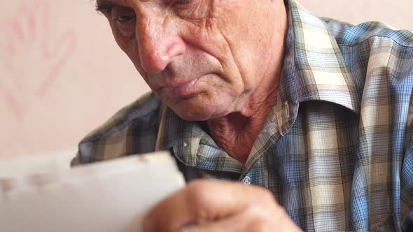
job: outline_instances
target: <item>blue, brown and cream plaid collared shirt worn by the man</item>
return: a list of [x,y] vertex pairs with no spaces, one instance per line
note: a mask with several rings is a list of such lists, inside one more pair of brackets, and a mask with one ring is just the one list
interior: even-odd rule
[[319,18],[288,1],[279,97],[245,165],[154,94],[79,145],[72,164],[170,150],[187,180],[274,193],[305,231],[400,231],[413,210],[413,33]]

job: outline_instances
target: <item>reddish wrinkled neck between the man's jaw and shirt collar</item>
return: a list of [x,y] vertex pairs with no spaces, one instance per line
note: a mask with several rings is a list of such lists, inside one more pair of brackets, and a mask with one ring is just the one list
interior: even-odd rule
[[245,164],[253,144],[265,124],[269,110],[274,106],[278,96],[279,79],[283,64],[283,50],[287,33],[286,8],[279,8],[279,20],[276,20],[272,48],[264,55],[268,61],[267,69],[257,73],[262,78],[257,87],[246,94],[245,101],[238,110],[217,119],[207,121],[209,133],[218,146],[222,147],[230,157]]

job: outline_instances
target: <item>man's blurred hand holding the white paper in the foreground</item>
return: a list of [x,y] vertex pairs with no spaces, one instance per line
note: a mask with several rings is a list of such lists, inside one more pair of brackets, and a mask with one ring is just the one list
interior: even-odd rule
[[196,180],[158,203],[145,232],[300,231],[274,196],[261,187]]

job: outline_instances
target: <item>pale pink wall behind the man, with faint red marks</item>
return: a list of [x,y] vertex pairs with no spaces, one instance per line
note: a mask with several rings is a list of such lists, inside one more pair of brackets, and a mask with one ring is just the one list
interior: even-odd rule
[[[411,0],[302,0],[318,15],[413,29]],[[76,149],[148,91],[92,0],[0,1],[0,159]]]

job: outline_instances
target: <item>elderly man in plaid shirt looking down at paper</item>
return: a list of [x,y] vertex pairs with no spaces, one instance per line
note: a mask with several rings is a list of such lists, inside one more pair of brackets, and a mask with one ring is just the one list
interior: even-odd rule
[[229,180],[190,182],[148,213],[146,231],[402,229],[412,32],[319,18],[295,0],[97,10],[153,93],[84,138],[72,164],[170,150],[188,181]]

